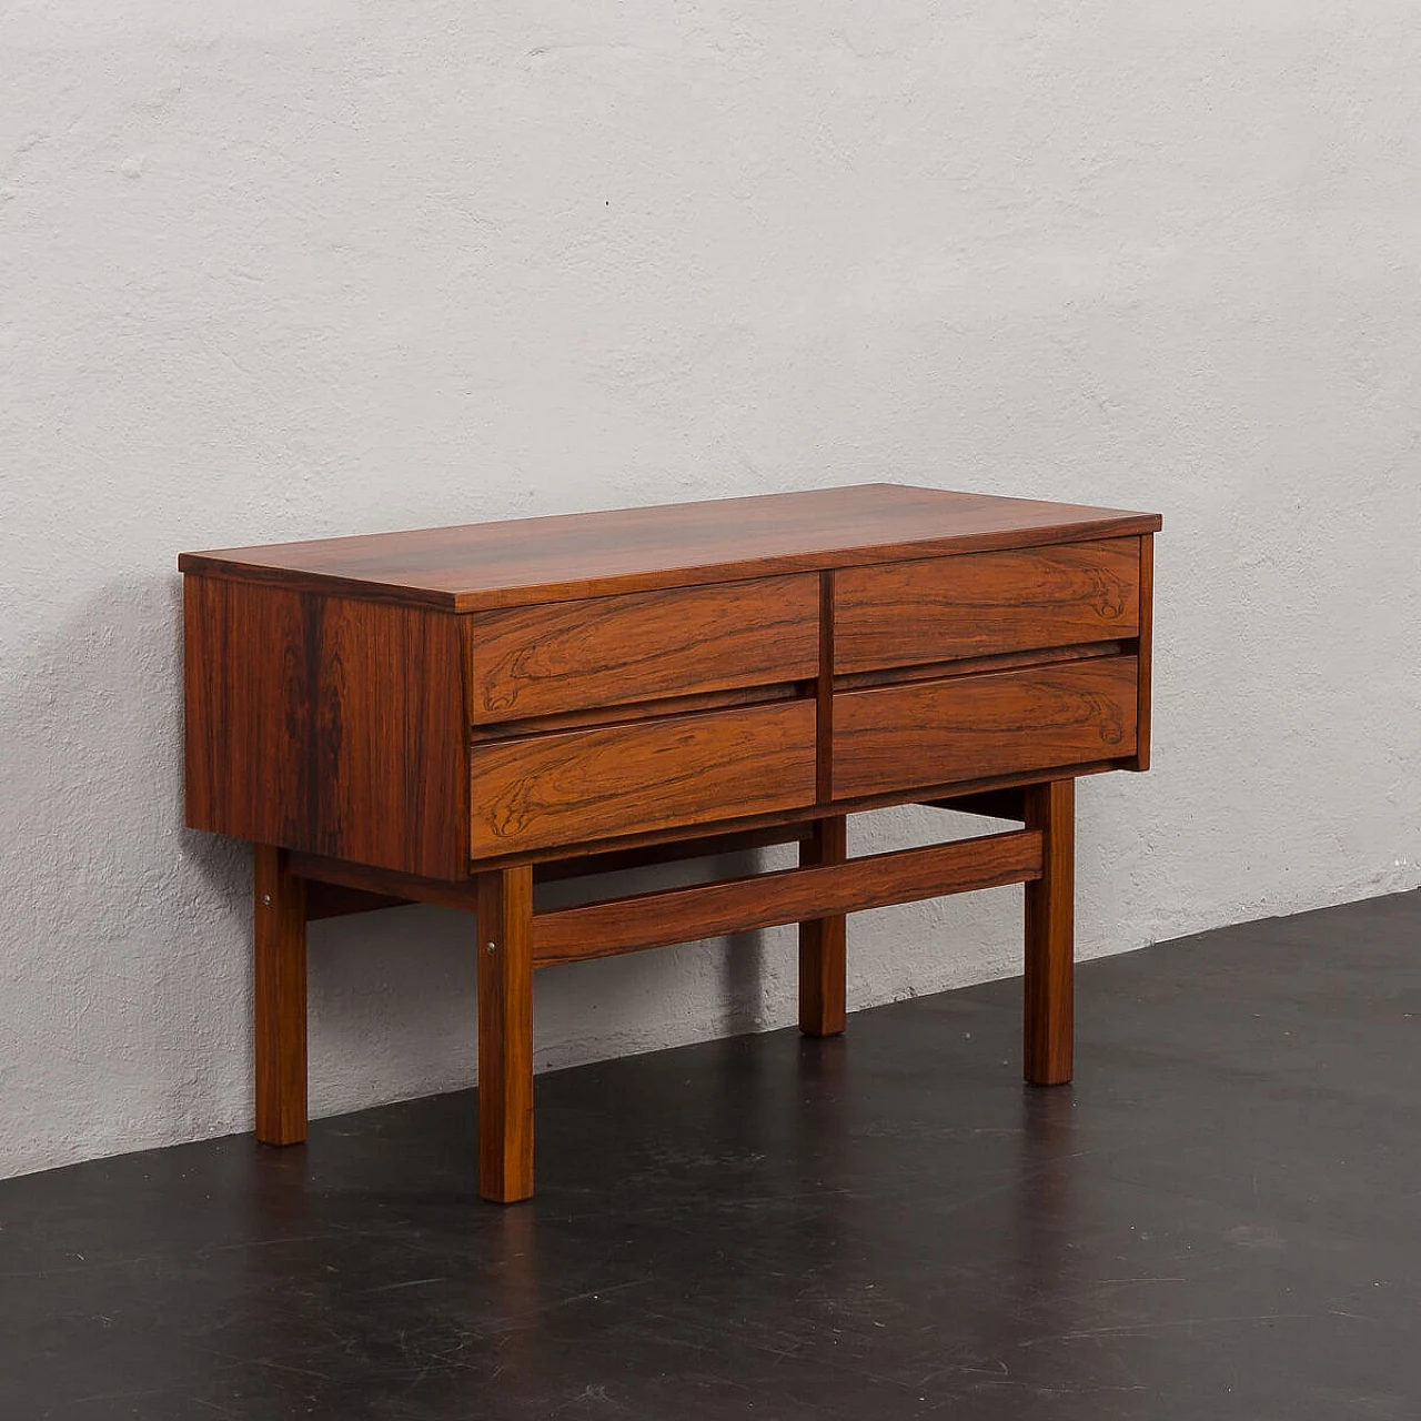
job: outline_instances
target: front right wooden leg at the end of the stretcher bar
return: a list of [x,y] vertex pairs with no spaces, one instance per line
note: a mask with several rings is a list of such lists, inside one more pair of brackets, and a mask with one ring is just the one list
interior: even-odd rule
[[1026,885],[1025,1074],[1033,1086],[1071,1077],[1076,968],[1076,782],[1026,790],[1026,827],[1042,833],[1042,877]]

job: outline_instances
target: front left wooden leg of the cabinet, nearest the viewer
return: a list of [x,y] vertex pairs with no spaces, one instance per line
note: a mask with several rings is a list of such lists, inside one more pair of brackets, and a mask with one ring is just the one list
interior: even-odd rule
[[533,870],[479,875],[479,1194],[533,1194]]

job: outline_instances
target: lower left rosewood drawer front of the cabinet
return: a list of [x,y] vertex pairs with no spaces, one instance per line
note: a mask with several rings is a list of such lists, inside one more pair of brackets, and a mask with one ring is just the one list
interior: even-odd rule
[[470,752],[473,858],[814,801],[814,702],[490,740]]

